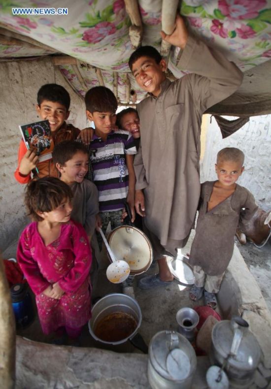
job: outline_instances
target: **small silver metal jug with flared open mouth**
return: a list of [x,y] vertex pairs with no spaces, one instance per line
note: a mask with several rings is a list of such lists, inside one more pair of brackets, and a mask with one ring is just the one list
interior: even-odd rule
[[178,332],[185,336],[189,342],[193,342],[199,320],[199,315],[194,309],[188,307],[179,309],[176,314]]

